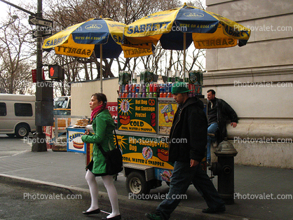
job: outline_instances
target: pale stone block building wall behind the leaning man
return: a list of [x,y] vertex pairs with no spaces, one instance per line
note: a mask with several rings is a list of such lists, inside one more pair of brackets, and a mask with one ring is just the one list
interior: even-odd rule
[[227,124],[235,162],[293,168],[293,1],[206,4],[207,11],[252,30],[246,46],[206,53],[203,92],[214,89],[238,114],[236,128]]

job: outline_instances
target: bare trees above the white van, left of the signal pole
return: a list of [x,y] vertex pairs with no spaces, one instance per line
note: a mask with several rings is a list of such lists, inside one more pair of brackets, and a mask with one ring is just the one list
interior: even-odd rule
[[[24,16],[19,14],[20,19]],[[11,13],[4,24],[11,22]],[[0,90],[7,93],[33,93],[32,56],[34,43],[32,31],[20,20],[0,29]]]

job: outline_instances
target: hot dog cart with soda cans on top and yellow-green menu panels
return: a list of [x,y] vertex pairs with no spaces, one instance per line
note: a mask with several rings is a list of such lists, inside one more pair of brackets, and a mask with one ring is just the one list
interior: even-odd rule
[[[123,173],[127,191],[133,195],[146,195],[151,188],[161,186],[162,181],[167,184],[170,182],[173,164],[168,162],[168,137],[177,103],[171,97],[170,78],[169,83],[153,83],[153,75],[144,73],[141,75],[140,84],[136,84],[135,78],[131,84],[130,78],[131,74],[119,74],[116,135],[123,153]],[[190,79],[191,77],[189,81]],[[175,78],[172,80],[173,83],[177,81]],[[201,87],[196,82],[189,85],[186,83],[189,89],[194,88],[189,95],[200,97],[206,106],[206,99],[199,96]],[[69,142],[73,142],[74,137],[80,139],[81,133],[87,129],[93,132],[90,126],[78,129],[79,132],[71,130]],[[74,143],[74,146],[81,147]],[[93,144],[85,144],[84,149],[86,163],[89,163]],[[201,165],[206,170],[205,159]]]

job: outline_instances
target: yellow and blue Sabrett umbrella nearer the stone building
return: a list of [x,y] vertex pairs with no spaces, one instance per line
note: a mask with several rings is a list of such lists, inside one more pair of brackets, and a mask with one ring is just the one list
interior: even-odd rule
[[191,43],[198,49],[245,46],[250,29],[221,15],[192,6],[153,13],[124,29],[123,41],[135,45],[160,41],[162,48],[184,50]]

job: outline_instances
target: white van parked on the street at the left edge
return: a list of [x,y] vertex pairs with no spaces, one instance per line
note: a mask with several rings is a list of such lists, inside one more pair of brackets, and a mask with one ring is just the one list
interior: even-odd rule
[[27,137],[36,131],[34,95],[0,93],[0,134]]

